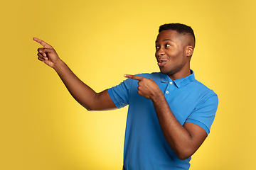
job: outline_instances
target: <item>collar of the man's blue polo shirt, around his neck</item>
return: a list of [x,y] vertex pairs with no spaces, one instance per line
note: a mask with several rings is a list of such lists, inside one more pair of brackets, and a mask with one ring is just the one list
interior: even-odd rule
[[171,80],[170,77],[167,74],[161,74],[161,82],[162,83],[169,83],[170,81],[174,82],[174,84],[181,88],[183,86],[186,86],[191,81],[195,80],[195,75],[193,73],[193,70],[191,69],[191,74],[188,77],[183,77],[181,79]]

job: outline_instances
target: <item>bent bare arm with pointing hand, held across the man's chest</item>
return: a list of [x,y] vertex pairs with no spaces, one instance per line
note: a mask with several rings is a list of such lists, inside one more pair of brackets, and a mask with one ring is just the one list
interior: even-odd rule
[[164,94],[153,79],[129,74],[124,77],[138,80],[138,94],[151,99],[164,137],[178,159],[191,157],[206,139],[206,131],[193,123],[181,125],[171,112]]

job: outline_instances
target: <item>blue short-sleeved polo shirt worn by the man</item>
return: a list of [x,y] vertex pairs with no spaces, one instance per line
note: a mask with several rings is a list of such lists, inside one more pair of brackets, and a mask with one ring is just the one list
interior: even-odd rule
[[[182,79],[171,80],[166,74],[137,74],[153,79],[163,92],[172,113],[181,125],[194,123],[210,132],[218,96],[197,81],[193,71]],[[126,79],[108,89],[117,108],[129,105],[124,139],[126,170],[189,169],[191,157],[180,160],[166,142],[153,103],[137,93],[138,81]]]

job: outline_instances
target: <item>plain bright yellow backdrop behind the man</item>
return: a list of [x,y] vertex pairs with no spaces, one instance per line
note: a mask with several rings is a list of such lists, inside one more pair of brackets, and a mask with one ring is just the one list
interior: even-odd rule
[[0,169],[122,169],[127,107],[87,112],[37,60],[34,36],[102,91],[123,74],[158,72],[158,28],[176,22],[195,31],[191,69],[220,101],[191,170],[256,169],[255,8],[254,0],[1,1]]

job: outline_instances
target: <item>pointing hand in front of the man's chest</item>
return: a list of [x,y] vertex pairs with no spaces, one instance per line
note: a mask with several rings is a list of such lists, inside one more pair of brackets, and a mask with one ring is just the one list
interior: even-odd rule
[[138,77],[130,74],[124,74],[124,77],[139,81],[138,94],[140,96],[153,99],[154,97],[163,94],[153,79],[146,79],[144,77]]

